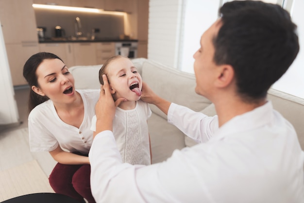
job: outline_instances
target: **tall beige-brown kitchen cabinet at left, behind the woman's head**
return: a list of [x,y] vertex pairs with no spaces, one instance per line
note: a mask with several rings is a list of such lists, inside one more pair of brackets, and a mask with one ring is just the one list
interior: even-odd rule
[[39,51],[33,0],[0,0],[0,21],[13,85],[26,85],[23,66]]

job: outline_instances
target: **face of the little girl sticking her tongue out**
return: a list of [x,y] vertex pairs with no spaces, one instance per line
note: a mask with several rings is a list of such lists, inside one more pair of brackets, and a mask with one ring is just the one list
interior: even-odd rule
[[118,58],[112,61],[107,67],[107,72],[114,100],[120,97],[128,101],[140,99],[142,79],[130,59]]

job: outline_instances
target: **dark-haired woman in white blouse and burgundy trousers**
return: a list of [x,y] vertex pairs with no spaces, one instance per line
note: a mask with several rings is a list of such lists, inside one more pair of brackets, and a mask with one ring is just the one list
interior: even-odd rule
[[50,152],[58,163],[49,177],[56,193],[79,202],[95,200],[90,188],[87,157],[93,141],[90,130],[99,90],[75,90],[74,78],[56,55],[39,52],[24,65],[31,86],[29,136],[32,152]]

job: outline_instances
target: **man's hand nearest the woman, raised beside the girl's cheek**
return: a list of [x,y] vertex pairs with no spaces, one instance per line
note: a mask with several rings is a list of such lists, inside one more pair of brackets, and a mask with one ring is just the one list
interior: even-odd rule
[[115,116],[116,107],[122,101],[126,101],[124,98],[119,98],[114,102],[106,75],[102,75],[102,79],[104,85],[101,85],[99,100],[95,106],[97,118],[96,135],[105,130],[113,131],[113,118]]

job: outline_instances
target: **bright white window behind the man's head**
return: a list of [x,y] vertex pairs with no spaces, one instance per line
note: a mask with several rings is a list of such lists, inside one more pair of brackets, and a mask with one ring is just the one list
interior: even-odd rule
[[[193,73],[193,54],[200,47],[203,32],[217,19],[220,5],[230,0],[186,0],[181,26],[179,62],[177,68]],[[304,0],[264,0],[282,5],[298,25],[300,52],[286,74],[272,88],[304,98]]]

